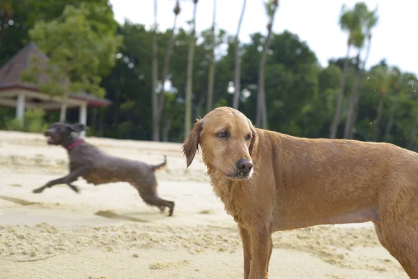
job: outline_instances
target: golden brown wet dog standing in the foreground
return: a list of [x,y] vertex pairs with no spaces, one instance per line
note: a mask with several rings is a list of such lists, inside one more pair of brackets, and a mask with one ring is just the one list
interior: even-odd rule
[[410,278],[418,278],[418,154],[393,144],[307,139],[254,128],[230,107],[194,124],[215,194],[240,229],[244,278],[268,277],[272,232],[372,221]]

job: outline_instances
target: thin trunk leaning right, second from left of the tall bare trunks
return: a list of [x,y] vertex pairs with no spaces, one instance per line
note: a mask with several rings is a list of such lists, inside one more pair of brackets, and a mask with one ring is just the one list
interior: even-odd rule
[[167,51],[164,57],[164,68],[162,70],[162,92],[160,93],[160,98],[158,100],[158,109],[157,109],[157,121],[156,121],[156,132],[160,135],[160,127],[161,127],[161,118],[162,112],[164,112],[165,107],[165,92],[164,92],[164,84],[167,82],[167,77],[169,75],[169,68],[170,68],[170,59],[171,54],[173,53],[173,43],[174,43],[174,32],[176,31],[177,25],[177,16],[180,13],[180,5],[179,0],[176,1],[176,6],[174,7],[174,23],[173,23],[173,30],[171,31],[171,35],[169,41],[167,43]]

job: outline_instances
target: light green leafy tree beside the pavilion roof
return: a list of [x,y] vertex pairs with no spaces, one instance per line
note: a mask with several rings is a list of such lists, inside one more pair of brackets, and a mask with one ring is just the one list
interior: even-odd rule
[[[33,57],[22,78],[37,84],[40,91],[63,96],[60,121],[65,121],[69,93],[86,91],[104,96],[100,75],[107,75],[114,66],[116,50],[121,44],[121,37],[115,36],[111,29],[102,29],[100,22],[89,21],[89,15],[84,4],[79,8],[66,6],[55,20],[37,22],[29,31],[31,40],[49,61],[47,65],[41,65]],[[41,73],[45,73],[50,82],[38,84]]]

